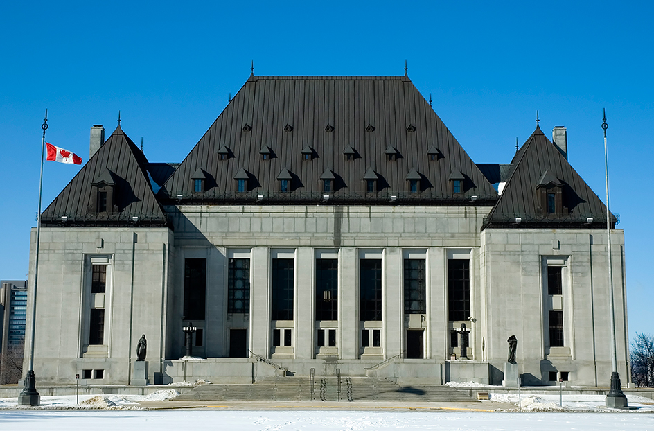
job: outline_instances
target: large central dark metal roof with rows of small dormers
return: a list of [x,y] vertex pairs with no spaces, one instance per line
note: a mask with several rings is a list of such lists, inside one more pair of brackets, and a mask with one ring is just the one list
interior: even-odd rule
[[[244,124],[251,130],[244,130]],[[259,154],[263,146],[276,157],[263,160]],[[313,150],[310,160],[302,157],[307,147]],[[388,160],[389,147],[397,150],[395,160]],[[442,155],[438,160],[427,155],[432,147]],[[229,148],[229,159],[217,157],[220,148]],[[344,156],[352,154],[348,148],[357,157],[348,160]],[[200,167],[213,177],[213,186],[198,195],[190,177]],[[320,177],[327,167],[335,175],[330,204],[386,203],[390,195],[397,195],[400,202],[430,204],[467,203],[472,195],[478,196],[475,204],[497,200],[493,186],[406,76],[251,76],[159,196],[175,202],[238,199],[256,204],[257,195],[263,195],[264,202],[322,200]],[[363,178],[369,167],[379,175],[376,193],[366,193]],[[236,193],[232,181],[240,168],[256,179],[257,187],[248,193]],[[292,173],[291,193],[278,192],[284,168]],[[408,191],[405,177],[411,168],[423,175],[421,193]],[[456,195],[448,179],[454,168],[465,179],[464,193]]]

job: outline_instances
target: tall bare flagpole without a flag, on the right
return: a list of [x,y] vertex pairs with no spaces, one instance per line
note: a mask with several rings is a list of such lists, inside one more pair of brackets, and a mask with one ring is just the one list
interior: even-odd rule
[[602,129],[604,130],[604,172],[606,174],[606,240],[608,248],[608,286],[609,286],[609,311],[610,311],[610,325],[611,325],[611,389],[606,394],[606,407],[627,407],[627,397],[621,389],[620,374],[618,373],[617,353],[615,349],[615,309],[613,304],[613,254],[611,251],[611,211],[608,193],[608,149],[606,146],[606,109],[603,109],[603,123]]

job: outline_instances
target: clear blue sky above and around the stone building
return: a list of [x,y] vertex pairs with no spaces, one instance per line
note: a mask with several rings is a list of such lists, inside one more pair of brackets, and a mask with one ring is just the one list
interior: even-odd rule
[[[625,230],[630,334],[654,333],[654,33],[649,2],[5,2],[0,15],[0,278],[25,279],[47,140],[88,158],[116,126],[150,161],[182,161],[249,76],[409,77],[477,163],[511,160],[535,127],[568,130],[569,161]],[[527,4],[529,3],[529,4]],[[44,166],[44,208],[78,167]]]

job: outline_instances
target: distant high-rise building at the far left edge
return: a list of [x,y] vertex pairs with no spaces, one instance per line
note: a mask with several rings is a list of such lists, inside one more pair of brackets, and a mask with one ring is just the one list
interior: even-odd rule
[[[21,349],[25,340],[27,281],[0,281],[0,353]],[[20,351],[20,350],[18,350]],[[14,351],[16,353],[17,350]],[[6,363],[0,363],[0,383],[5,381]]]

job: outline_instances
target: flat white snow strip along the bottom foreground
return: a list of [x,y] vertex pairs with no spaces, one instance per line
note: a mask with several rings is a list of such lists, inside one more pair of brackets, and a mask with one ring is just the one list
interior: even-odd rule
[[380,411],[1,411],[3,430],[139,430],[220,429],[238,431],[324,430],[458,430],[458,431],[651,431],[650,414],[621,413],[484,413]]

